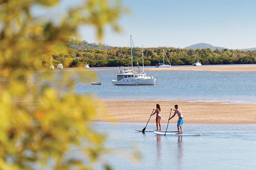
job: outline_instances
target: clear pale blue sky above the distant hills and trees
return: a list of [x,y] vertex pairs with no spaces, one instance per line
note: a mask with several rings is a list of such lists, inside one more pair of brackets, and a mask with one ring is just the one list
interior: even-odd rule
[[[70,0],[63,0],[68,5]],[[116,33],[105,26],[97,39],[92,26],[80,26],[77,38],[89,43],[130,47],[185,48],[197,43],[229,49],[256,47],[256,1],[254,0],[122,0],[130,12],[117,23]]]

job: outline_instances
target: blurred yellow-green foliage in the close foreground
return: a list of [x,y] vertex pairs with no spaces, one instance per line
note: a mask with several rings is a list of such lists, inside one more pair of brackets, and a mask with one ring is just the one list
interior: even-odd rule
[[[111,1],[111,5],[108,0],[81,2],[70,7],[56,24],[32,15],[31,8],[51,8],[60,4],[59,0],[0,0],[0,78],[9,80],[0,85],[1,170],[44,167],[50,159],[52,169],[90,169],[92,162],[108,152],[102,145],[106,136],[91,129],[89,115],[96,115],[92,96],[77,95],[70,76],[62,75],[59,88],[68,89],[63,94],[51,85],[24,83],[32,71],[40,69],[39,59],[47,57],[43,47],[61,49],[62,37],[75,35],[79,25],[95,26],[99,38],[106,24],[120,30],[116,20],[125,10],[119,1]],[[50,71],[39,75],[37,80],[54,81]],[[86,76],[80,76],[80,81],[96,75],[88,72]],[[85,139],[88,146],[81,145]],[[73,145],[84,149],[88,163],[65,157]],[[103,166],[109,169],[107,164]]]

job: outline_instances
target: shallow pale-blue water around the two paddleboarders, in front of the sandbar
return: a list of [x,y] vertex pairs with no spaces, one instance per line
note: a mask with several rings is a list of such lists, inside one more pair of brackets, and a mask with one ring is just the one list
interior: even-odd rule
[[[255,124],[187,124],[184,133],[201,133],[202,136],[159,136],[152,132],[142,134],[134,129],[143,129],[146,123],[94,122],[98,131],[108,134],[106,146],[114,150],[140,151],[142,158],[134,163],[122,157],[105,156],[114,169],[255,169],[256,125]],[[155,129],[148,123],[147,129]],[[162,123],[166,129],[167,123]],[[168,130],[176,130],[169,123]],[[96,169],[102,169],[96,166]]]

